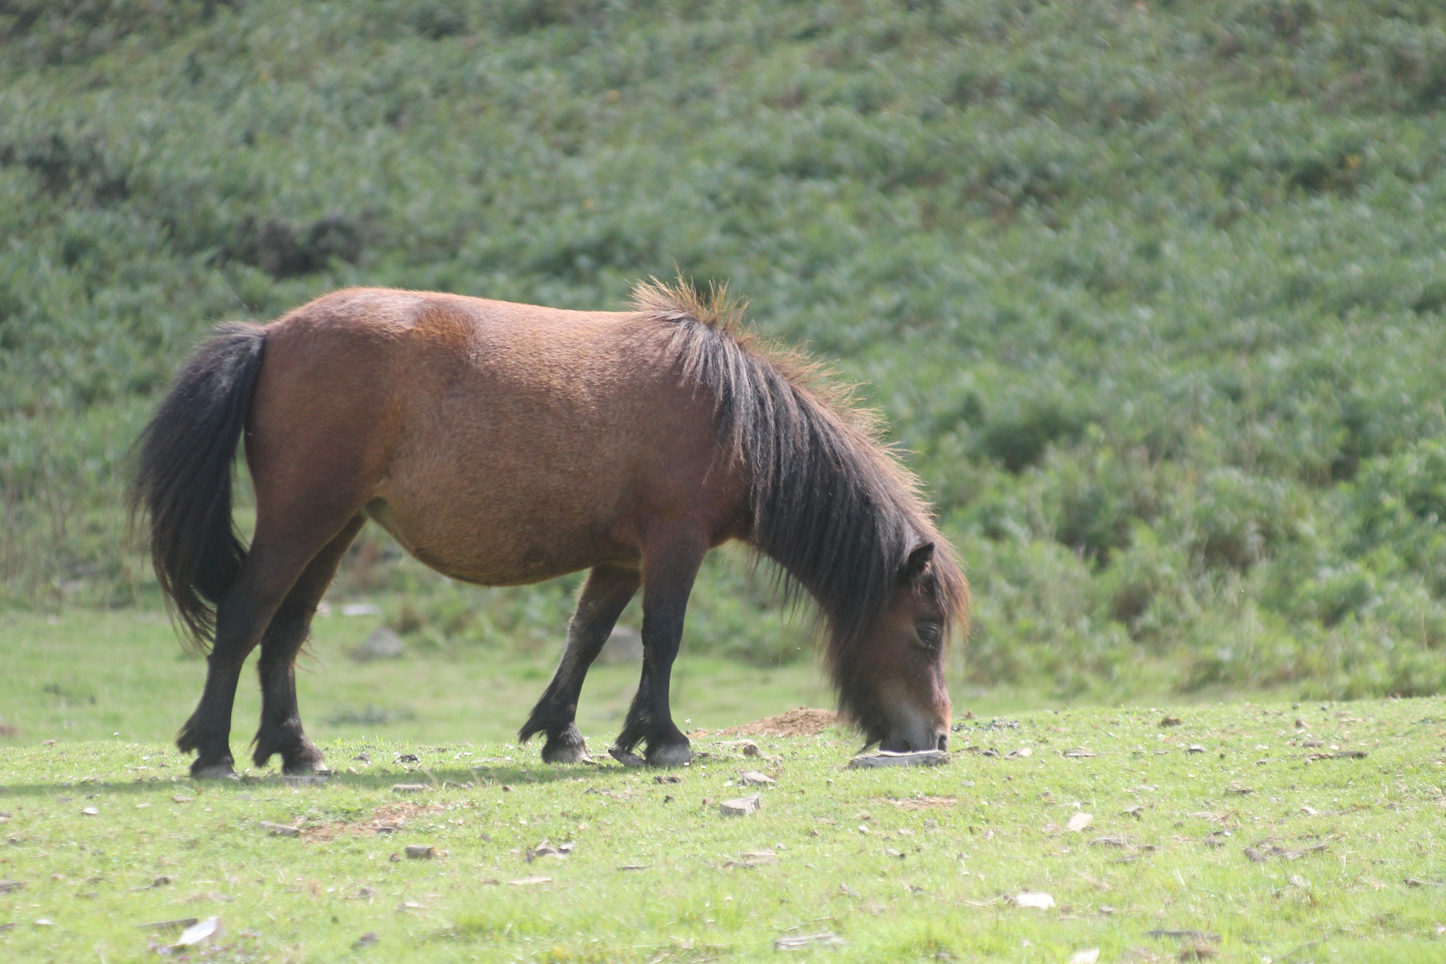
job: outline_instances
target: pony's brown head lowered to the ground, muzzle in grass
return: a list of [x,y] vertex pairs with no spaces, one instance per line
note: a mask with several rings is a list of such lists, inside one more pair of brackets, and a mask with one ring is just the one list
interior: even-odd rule
[[839,702],[869,744],[882,750],[943,750],[950,701],[944,655],[963,619],[967,588],[953,559],[925,542],[910,552],[847,665],[834,666]]

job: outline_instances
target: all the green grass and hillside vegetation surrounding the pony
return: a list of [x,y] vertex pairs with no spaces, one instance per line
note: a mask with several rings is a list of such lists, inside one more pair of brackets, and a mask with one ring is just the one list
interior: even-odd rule
[[[1443,210],[1434,0],[0,3],[0,961],[211,916],[168,958],[1446,960]],[[299,679],[337,775],[192,786],[204,662],[123,506],[207,328],[678,272],[882,412],[975,587],[977,752],[542,767],[509,741],[578,577],[369,528]],[[748,568],[700,577],[688,728],[827,705]],[[350,660],[379,623],[408,656]],[[635,676],[590,679],[594,750]]]

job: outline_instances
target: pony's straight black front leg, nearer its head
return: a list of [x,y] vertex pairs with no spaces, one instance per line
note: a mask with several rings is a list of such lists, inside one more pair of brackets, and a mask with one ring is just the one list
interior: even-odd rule
[[704,542],[680,542],[648,554],[642,590],[642,678],[628,710],[613,756],[623,762],[638,743],[648,744],[651,766],[683,766],[693,759],[688,737],[672,723],[668,685],[672,660],[683,642],[683,619],[698,565],[707,552]]

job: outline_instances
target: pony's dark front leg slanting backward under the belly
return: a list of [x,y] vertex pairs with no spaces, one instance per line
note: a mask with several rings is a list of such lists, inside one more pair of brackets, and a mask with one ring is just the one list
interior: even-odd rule
[[577,698],[583,679],[597,659],[617,616],[638,591],[641,575],[636,569],[596,567],[583,585],[577,610],[567,629],[567,649],[538,705],[518,731],[526,743],[536,733],[547,733],[542,760],[547,763],[577,763],[586,759],[587,747],[577,731]]

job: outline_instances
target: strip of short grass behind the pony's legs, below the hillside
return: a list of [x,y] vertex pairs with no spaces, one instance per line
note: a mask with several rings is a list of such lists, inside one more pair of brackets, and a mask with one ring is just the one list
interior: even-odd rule
[[[308,733],[317,739],[506,741],[526,718],[561,653],[470,647],[428,649],[412,640],[402,659],[357,663],[347,653],[377,626],[377,616],[318,617],[296,689]],[[561,636],[561,627],[558,627]],[[45,739],[169,740],[201,695],[205,660],[179,647],[165,616],[69,610],[64,616],[0,616],[10,649],[0,678],[0,746]],[[13,646],[12,646],[13,645]],[[254,659],[254,656],[253,656]],[[717,656],[678,660],[674,705],[680,724],[723,727],[826,705],[808,662],[759,669]],[[607,741],[622,728],[638,685],[636,663],[597,665],[580,705],[583,733]],[[237,691],[233,750],[241,756],[256,728],[260,695],[247,672]],[[687,728],[687,727],[685,727]]]

